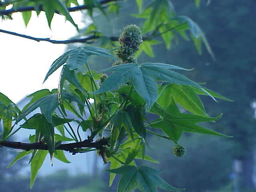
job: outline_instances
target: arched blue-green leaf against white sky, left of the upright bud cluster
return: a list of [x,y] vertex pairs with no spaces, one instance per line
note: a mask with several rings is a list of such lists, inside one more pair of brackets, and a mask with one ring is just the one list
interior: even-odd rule
[[111,50],[90,46],[86,46],[83,48],[79,47],[69,50],[52,63],[48,73],[46,74],[46,77],[44,78],[44,82],[54,71],[56,71],[64,63],[67,63],[69,65],[70,70],[75,70],[78,67],[84,65],[87,61],[88,56],[90,55],[108,57],[117,60],[117,58],[109,53],[110,51]]

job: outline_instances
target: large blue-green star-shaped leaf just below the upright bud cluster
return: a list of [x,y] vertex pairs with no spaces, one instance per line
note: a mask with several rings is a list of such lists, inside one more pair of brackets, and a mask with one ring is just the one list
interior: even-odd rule
[[136,92],[145,100],[146,111],[149,111],[158,96],[156,79],[201,88],[201,86],[192,80],[170,69],[186,70],[178,66],[162,63],[144,63],[140,65],[130,63],[113,66],[102,71],[111,70],[114,73],[104,81],[102,86],[94,94],[114,90],[127,81],[131,81]]

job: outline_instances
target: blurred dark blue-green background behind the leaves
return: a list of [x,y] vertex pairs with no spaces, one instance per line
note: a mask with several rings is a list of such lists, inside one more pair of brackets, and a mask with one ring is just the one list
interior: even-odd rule
[[[166,182],[186,188],[187,192],[255,192],[256,2],[255,0],[212,0],[206,6],[206,1],[202,1],[200,8],[196,8],[193,0],[172,0],[172,3],[179,15],[192,18],[202,28],[216,60],[213,60],[204,47],[203,54],[198,55],[192,40],[178,38],[178,44],[173,42],[170,49],[166,49],[164,43],[152,46],[154,57],[142,53],[138,62],[161,62],[195,68],[184,75],[198,83],[206,82],[205,87],[234,100],[234,102],[224,100],[214,102],[207,96],[201,97],[210,116],[223,113],[223,117],[216,123],[205,126],[233,138],[184,134],[180,144],[186,147],[187,153],[182,158],[172,154],[174,146],[172,142],[149,138],[149,146],[152,150],[148,149],[147,153],[160,161],[160,164],[153,166],[164,170],[161,176]],[[106,36],[118,36],[128,24],[142,26],[144,20],[131,16],[132,13],[138,12],[135,1],[120,2],[120,4],[122,6],[118,17],[114,14],[109,15],[109,19],[101,14],[94,17],[98,30]],[[162,41],[161,38],[157,40]],[[97,58],[97,62],[91,61],[92,70],[111,66],[111,63],[100,62],[100,58]],[[5,157],[3,153],[6,152],[9,154],[8,159],[2,158],[0,162],[0,191],[114,192],[116,190],[116,182],[108,188],[109,176],[103,170],[107,169],[108,165],[103,169],[100,167],[102,171],[94,175],[70,175],[68,171],[60,170],[51,175],[41,176],[37,178],[33,189],[29,190],[29,175],[24,176],[19,173],[24,161],[16,163],[12,169],[6,169],[11,161],[10,156],[14,156],[15,153],[0,150],[0,156]],[[147,164],[147,162],[139,161],[138,164]]]

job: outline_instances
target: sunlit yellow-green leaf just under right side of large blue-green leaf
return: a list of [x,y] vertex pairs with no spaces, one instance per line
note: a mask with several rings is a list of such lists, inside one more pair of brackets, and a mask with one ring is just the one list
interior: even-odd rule
[[192,87],[178,84],[169,84],[162,88],[157,102],[164,109],[170,104],[171,97],[186,110],[202,116],[208,116],[202,101]]

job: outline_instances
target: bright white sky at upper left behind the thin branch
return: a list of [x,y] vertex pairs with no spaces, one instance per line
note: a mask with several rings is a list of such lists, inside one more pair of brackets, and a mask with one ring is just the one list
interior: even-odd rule
[[[81,12],[73,12],[71,16],[79,28],[84,27],[80,22]],[[52,40],[66,40],[76,34],[76,28],[70,22],[65,22],[64,16],[58,14],[54,14],[52,30],[48,27],[44,12],[40,13],[39,18],[32,12],[27,28],[21,13],[14,13],[12,17],[13,20],[0,21],[0,29]],[[63,54],[65,44],[36,42],[0,33],[0,45],[0,92],[14,103],[37,90],[58,87],[60,69],[44,84],[42,82],[52,62]]]

